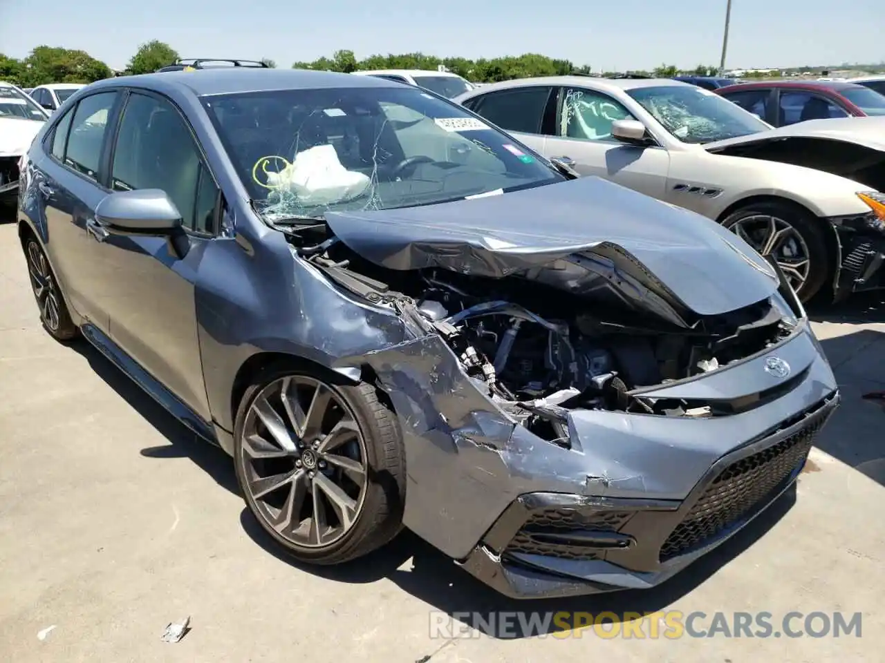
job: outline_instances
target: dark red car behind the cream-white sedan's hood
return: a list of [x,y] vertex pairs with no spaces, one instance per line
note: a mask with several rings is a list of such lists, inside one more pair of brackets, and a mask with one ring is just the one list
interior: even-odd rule
[[838,80],[773,80],[741,83],[717,95],[755,113],[773,126],[806,119],[885,115],[885,96],[856,83]]

